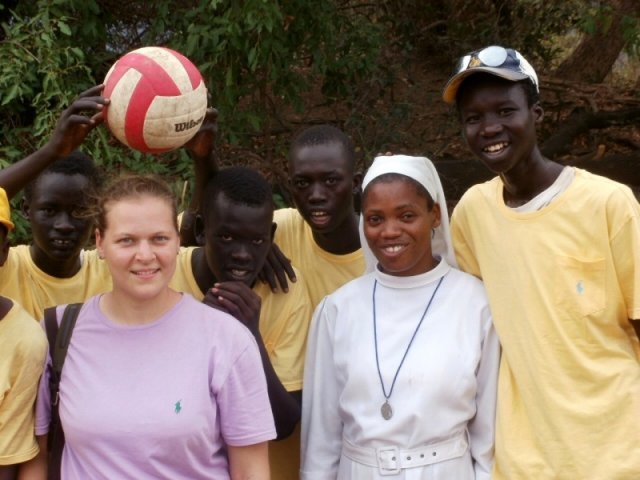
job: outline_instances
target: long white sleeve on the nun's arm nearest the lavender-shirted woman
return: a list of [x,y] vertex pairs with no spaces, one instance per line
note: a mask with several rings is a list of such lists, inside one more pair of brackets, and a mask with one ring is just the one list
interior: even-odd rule
[[302,395],[301,480],[336,478],[342,451],[340,388],[333,364],[335,309],[325,298],[314,313],[307,341]]

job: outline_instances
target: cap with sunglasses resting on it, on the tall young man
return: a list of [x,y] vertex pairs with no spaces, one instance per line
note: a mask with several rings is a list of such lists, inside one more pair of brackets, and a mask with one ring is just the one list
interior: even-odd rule
[[468,53],[458,60],[453,76],[444,87],[442,93],[444,101],[454,103],[462,80],[478,72],[489,73],[513,82],[528,79],[539,91],[538,76],[520,52],[512,48],[492,45]]

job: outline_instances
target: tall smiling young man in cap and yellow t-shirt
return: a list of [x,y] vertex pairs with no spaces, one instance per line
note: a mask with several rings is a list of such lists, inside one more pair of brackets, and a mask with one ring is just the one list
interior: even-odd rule
[[443,94],[497,175],[451,225],[503,347],[492,478],[638,478],[640,207],[624,185],[542,155],[538,88],[520,53],[491,46],[465,55]]

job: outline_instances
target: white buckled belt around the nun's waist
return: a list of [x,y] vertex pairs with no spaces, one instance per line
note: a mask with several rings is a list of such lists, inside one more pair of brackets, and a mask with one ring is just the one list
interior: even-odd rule
[[342,439],[342,454],[345,457],[363,465],[378,467],[380,475],[397,475],[405,468],[422,467],[461,457],[468,447],[466,431],[442,442],[408,450],[395,446],[358,447],[345,438]]

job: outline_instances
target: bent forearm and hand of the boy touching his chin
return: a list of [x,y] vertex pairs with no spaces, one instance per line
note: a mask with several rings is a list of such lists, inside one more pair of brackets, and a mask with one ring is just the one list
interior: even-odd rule
[[203,301],[210,307],[227,312],[240,320],[255,337],[267,378],[267,390],[278,439],[288,437],[300,421],[302,398],[300,392],[287,392],[271,365],[259,330],[260,297],[242,282],[220,282],[207,292]]

